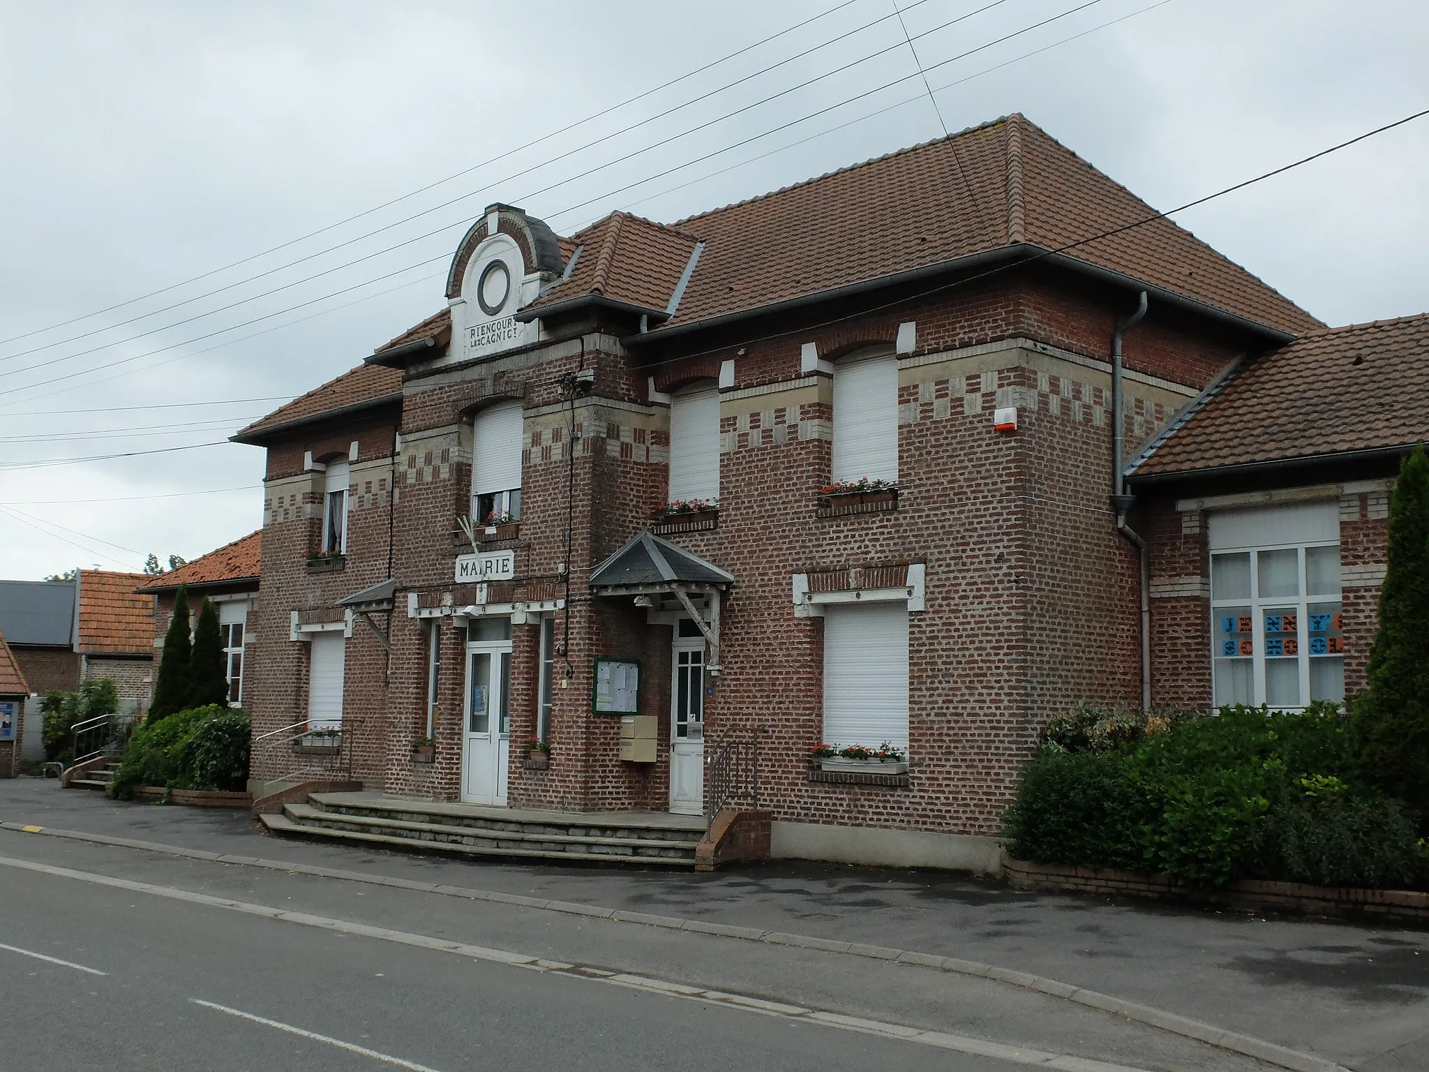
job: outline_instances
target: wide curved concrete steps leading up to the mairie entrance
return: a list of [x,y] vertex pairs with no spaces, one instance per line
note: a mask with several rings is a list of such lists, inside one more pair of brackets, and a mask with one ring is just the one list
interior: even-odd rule
[[699,816],[534,812],[376,793],[312,793],[260,815],[277,835],[390,845],[463,856],[694,866]]

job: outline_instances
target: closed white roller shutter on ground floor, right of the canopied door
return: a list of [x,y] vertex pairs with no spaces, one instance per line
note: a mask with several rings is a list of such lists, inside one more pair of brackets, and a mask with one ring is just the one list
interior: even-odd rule
[[905,603],[825,606],[823,739],[907,748]]

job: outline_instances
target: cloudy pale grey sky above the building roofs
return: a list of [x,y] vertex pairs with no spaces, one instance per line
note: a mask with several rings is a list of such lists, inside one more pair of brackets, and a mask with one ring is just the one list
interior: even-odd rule
[[[1022,111],[1160,209],[1429,107],[1409,0],[899,6],[949,129]],[[0,576],[257,527],[226,437],[440,309],[490,202],[676,220],[942,133],[892,0],[530,10],[0,0]],[[1426,173],[1429,117],[1177,219],[1330,323],[1419,313]]]

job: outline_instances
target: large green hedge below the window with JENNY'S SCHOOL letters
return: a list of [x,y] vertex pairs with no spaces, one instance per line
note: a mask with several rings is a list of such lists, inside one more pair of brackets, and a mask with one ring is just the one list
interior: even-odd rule
[[1007,809],[1035,863],[1429,889],[1418,816],[1359,769],[1350,719],[1223,708],[1215,718],[1079,708],[1053,719]]

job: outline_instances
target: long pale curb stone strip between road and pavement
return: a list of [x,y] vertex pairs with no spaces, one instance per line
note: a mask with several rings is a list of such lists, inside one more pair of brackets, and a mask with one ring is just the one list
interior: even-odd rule
[[[387,878],[386,875],[370,875],[359,870],[340,870],[336,868],[320,868],[307,863],[284,863],[282,860],[264,860],[256,856],[233,856],[227,853],[204,852],[201,849],[183,849],[176,845],[160,845],[157,842],[141,842],[131,838],[113,838],[103,833],[84,833],[81,830],[60,830],[49,826],[31,823],[16,823],[0,820],[0,830],[14,830],[17,833],[37,833],[49,838],[66,838],[69,840],[91,842],[96,845],[116,845],[124,849],[143,849],[163,856],[189,858],[210,860],[214,863],[231,863],[247,868],[264,868],[269,870],[283,870],[290,875],[312,875],[316,878],[344,879],[349,882],[364,882],[372,886],[390,886],[396,889],[417,889],[422,892],[440,893],[443,896],[466,898],[467,900],[486,900],[499,905],[516,905],[520,908],[542,909],[546,912],[563,912],[567,915],[594,916],[612,922],[643,923],[647,926],[667,926],[694,933],[707,933],[735,941],[765,942],[769,945],[785,945],[797,949],[815,949],[819,952],[842,953],[845,956],[866,956],[879,961],[893,961],[917,968],[932,968],[935,971],[953,972],[957,975],[973,975],[983,979],[995,979],[1010,986],[1046,993],[1052,998],[1076,1002],[1092,1009],[1100,1009],[1115,1016],[1136,1023],[1180,1035],[1183,1038],[1206,1042],[1212,1046],[1242,1053],[1256,1061],[1290,1069],[1292,1072],[1349,1072],[1342,1065],[1305,1053],[1275,1042],[1266,1042],[1250,1035],[1242,1035],[1225,1028],[1216,1028],[1202,1021],[1180,1016],[1175,1012],[1156,1009],[1149,1005],[1139,1005],[1109,993],[1087,991],[1080,986],[1047,979],[1029,972],[1019,972],[1010,968],[980,963],[977,961],[962,961],[953,956],[936,956],[909,949],[889,949],[885,946],[863,946],[852,942],[837,942],[827,938],[812,938],[809,935],[789,935],[779,930],[759,930],[756,928],[736,928],[720,923],[704,923],[697,919],[680,919],[677,916],[654,916],[643,912],[624,912],[620,909],[597,908],[594,905],[579,905],[567,900],[543,900],[540,898],[523,898],[513,893],[497,893],[484,889],[467,889],[464,886],[433,885],[413,882],[410,879]],[[719,928],[717,930],[714,928]]]

